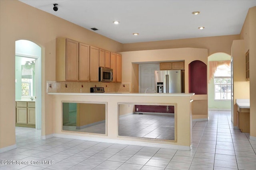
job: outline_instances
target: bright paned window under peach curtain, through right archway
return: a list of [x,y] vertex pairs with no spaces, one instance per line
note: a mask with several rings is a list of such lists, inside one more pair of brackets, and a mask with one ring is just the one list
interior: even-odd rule
[[231,100],[231,70],[226,65],[214,73],[214,100]]

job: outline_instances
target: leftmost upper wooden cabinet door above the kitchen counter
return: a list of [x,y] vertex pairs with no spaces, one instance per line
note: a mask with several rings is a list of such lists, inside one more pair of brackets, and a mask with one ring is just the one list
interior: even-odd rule
[[66,80],[78,80],[78,42],[66,39]]

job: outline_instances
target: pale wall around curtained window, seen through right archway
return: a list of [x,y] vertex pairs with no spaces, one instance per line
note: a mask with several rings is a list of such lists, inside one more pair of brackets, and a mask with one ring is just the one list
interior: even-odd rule
[[[214,53],[208,57],[209,61],[231,60],[231,56],[226,53]],[[209,65],[209,64],[208,64]],[[208,83],[208,108],[209,109],[231,109],[231,101],[214,100],[214,78]]]

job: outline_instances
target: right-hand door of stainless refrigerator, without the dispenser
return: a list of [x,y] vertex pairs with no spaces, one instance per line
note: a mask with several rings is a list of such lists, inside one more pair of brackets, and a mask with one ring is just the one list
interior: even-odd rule
[[169,75],[169,93],[181,93],[180,70],[167,70]]

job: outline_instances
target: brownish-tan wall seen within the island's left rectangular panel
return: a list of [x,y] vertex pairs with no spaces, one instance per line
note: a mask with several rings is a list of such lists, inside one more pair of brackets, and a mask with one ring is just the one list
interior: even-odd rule
[[106,104],[78,103],[76,126],[106,120]]

